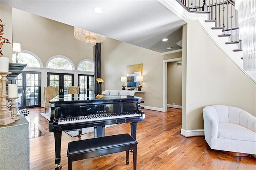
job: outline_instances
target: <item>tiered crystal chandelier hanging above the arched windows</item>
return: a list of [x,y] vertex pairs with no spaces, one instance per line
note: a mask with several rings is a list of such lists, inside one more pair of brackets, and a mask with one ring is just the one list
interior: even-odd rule
[[92,49],[96,43],[104,42],[106,37],[94,32],[83,30],[82,28],[74,27],[74,37],[89,45],[89,49]]

